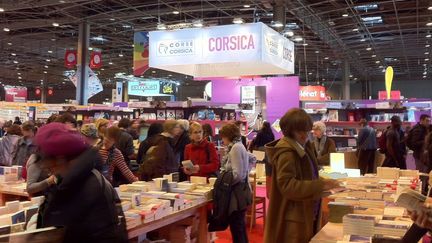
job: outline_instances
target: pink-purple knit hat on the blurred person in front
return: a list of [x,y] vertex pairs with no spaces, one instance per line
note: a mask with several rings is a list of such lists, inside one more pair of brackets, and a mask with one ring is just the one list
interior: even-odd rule
[[81,134],[58,122],[41,127],[35,142],[45,157],[75,158],[88,148]]

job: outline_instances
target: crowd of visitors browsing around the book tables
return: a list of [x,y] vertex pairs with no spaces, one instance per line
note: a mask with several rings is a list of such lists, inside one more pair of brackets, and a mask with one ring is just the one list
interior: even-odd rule
[[[360,125],[358,158],[362,174],[374,172],[377,149],[385,154],[383,166],[406,168],[407,147],[414,151],[420,171],[431,170],[428,115],[422,115],[409,132],[402,130],[399,117],[392,117],[391,126],[379,138],[366,120],[362,119]],[[225,147],[220,157],[208,124],[187,120],[147,124],[127,118],[118,123],[98,119],[82,124],[69,113],[53,115],[44,125],[21,123],[18,118],[3,124],[0,165],[23,166],[27,192],[46,197],[37,226],[65,226],[66,242],[127,242],[120,200],[113,189],[121,184],[151,181],[175,172],[181,180],[217,177],[223,184],[229,178],[229,191],[215,187],[214,195],[228,193],[215,198],[216,204],[228,204],[219,205],[227,212],[222,215],[222,226],[216,228],[230,226],[233,242],[243,243],[248,242],[245,214],[251,203],[248,174],[253,156],[248,150],[262,150],[266,152],[270,202],[265,242],[307,242],[320,228],[323,192],[339,187],[338,181],[318,174],[321,166],[329,165],[336,145],[326,136],[325,124],[314,123],[302,109],[289,110],[280,119],[280,127],[283,136],[275,140],[270,123],[264,122],[246,144],[239,124],[229,123],[218,134]],[[137,148],[134,140],[140,141]],[[191,161],[193,166],[184,167],[182,161]],[[425,213],[411,215],[416,227],[432,229]],[[210,217],[210,225],[211,221]]]

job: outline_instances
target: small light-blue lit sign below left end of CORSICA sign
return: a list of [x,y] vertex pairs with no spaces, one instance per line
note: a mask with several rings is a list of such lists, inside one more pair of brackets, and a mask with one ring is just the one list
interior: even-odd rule
[[177,86],[170,81],[129,81],[128,95],[171,96],[177,94]]

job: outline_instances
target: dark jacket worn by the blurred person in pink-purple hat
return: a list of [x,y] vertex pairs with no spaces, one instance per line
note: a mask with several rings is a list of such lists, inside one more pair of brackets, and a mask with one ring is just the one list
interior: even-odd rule
[[98,152],[89,149],[73,162],[69,174],[41,205],[38,227],[64,226],[64,242],[127,242],[120,200],[94,169],[98,160]]

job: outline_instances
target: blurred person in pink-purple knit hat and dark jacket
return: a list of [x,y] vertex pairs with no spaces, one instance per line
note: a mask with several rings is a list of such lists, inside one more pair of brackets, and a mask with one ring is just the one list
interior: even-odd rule
[[81,134],[56,122],[43,126],[35,140],[39,163],[57,178],[40,207],[38,227],[65,227],[64,242],[127,242],[118,195],[94,169],[98,151]]

